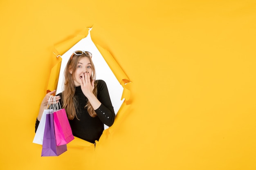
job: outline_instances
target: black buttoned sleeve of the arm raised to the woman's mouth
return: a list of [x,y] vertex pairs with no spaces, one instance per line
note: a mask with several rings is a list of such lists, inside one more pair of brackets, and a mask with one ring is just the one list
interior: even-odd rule
[[103,80],[98,80],[97,86],[98,94],[97,98],[101,102],[101,106],[95,110],[99,119],[107,126],[112,126],[115,120],[115,111],[112,106],[110,96],[108,93],[108,88],[106,82]]

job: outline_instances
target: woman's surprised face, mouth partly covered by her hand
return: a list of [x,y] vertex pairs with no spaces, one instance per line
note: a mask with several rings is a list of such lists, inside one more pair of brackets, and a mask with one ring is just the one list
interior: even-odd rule
[[[74,75],[74,85],[75,86],[80,86],[80,81],[79,79],[82,77],[84,73],[89,72],[89,76],[91,77],[92,75],[92,64],[89,60],[88,57],[81,57],[80,60],[78,61],[75,75]],[[72,73],[72,72],[71,72]]]

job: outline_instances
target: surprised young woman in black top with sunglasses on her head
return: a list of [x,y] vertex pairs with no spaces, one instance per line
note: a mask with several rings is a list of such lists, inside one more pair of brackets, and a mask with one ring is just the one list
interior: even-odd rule
[[[104,124],[112,126],[115,112],[106,83],[95,81],[91,57],[88,51],[75,51],[71,55],[64,71],[64,91],[56,96],[56,100],[65,108],[73,135],[94,143],[101,137]],[[47,93],[41,103],[36,130],[48,99],[54,93],[55,90]]]

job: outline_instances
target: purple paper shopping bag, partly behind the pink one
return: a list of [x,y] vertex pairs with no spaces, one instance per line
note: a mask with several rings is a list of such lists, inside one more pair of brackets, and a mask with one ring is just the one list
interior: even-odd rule
[[53,114],[47,114],[45,120],[45,132],[43,138],[42,157],[58,156],[67,151],[67,145],[56,145],[56,137],[54,132]]

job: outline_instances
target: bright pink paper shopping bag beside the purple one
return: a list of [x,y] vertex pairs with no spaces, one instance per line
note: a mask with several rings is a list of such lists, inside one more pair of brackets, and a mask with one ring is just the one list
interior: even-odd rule
[[68,144],[74,139],[64,108],[54,112],[54,126],[57,146]]

